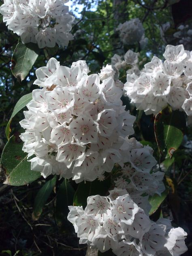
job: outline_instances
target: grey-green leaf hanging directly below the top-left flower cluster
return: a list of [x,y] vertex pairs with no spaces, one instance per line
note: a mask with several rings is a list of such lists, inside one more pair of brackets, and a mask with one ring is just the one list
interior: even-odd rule
[[[35,48],[36,47],[36,48]],[[11,59],[11,70],[19,82],[23,81],[38,57],[35,44],[23,44],[19,39]]]

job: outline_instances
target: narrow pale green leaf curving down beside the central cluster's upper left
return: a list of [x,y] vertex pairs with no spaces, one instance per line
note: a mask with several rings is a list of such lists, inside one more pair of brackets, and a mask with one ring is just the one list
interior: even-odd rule
[[22,96],[16,103],[14,109],[13,109],[13,113],[9,119],[9,122],[6,126],[6,129],[5,129],[5,134],[6,134],[6,137],[7,139],[9,139],[9,136],[10,136],[10,132],[11,132],[11,128],[10,128],[10,124],[11,124],[11,121],[13,119],[13,117],[21,110],[23,109],[23,107],[25,107],[28,102],[30,102],[30,100],[32,100],[32,92],[29,93],[29,94],[26,94],[24,96]]

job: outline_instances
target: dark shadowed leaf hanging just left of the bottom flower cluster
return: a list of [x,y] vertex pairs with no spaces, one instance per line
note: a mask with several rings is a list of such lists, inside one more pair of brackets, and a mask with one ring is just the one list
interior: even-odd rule
[[75,190],[68,180],[64,179],[57,192],[55,207],[55,220],[60,228],[64,228],[65,225],[68,226],[68,206],[73,205],[74,194]]

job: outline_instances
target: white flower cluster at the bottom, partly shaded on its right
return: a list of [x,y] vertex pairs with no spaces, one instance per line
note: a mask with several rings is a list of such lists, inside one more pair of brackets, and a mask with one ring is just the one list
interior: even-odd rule
[[117,256],[179,256],[186,252],[187,233],[173,228],[171,222],[153,222],[129,194],[89,196],[87,206],[70,206],[68,220],[74,225],[79,243],[105,252],[110,248]]

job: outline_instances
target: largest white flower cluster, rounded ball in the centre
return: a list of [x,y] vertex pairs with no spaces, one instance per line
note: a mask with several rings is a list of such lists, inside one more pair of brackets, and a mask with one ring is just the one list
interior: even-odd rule
[[35,155],[31,169],[44,177],[93,181],[115,163],[127,162],[134,148],[128,135],[134,133],[135,117],[122,106],[123,84],[115,83],[113,70],[88,73],[85,61],[68,68],[54,58],[36,70],[34,84],[43,89],[32,92],[20,122],[26,129],[21,139],[28,157]]

